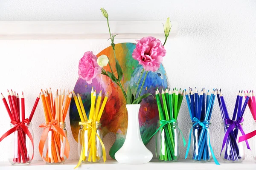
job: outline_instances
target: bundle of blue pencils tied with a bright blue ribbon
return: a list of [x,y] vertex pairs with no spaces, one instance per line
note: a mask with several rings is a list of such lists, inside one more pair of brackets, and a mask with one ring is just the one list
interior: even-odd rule
[[[193,122],[193,155],[192,159],[195,161],[209,161],[210,153],[212,153],[213,158],[215,159],[214,153],[210,144],[208,144],[208,121],[212,116],[213,104],[215,101],[215,90],[213,89],[212,93],[209,94],[209,90],[206,94],[206,90],[202,89],[200,94],[198,94],[197,89],[195,91],[189,87],[189,92],[185,89],[185,96],[187,105],[189,108],[189,115],[191,121]],[[201,122],[204,122],[204,127],[200,125]],[[190,138],[191,136],[189,136]],[[189,141],[190,142],[190,141]],[[210,149],[210,150],[209,150]],[[186,153],[188,154],[189,145]],[[215,159],[216,160],[216,159]],[[217,161],[218,162],[218,161]],[[215,161],[216,163],[216,161]],[[217,164],[217,163],[216,163]]]

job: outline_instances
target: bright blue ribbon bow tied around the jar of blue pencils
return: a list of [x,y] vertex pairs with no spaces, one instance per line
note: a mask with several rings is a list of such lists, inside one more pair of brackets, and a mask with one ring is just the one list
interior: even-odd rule
[[[189,147],[190,147],[190,143],[191,143],[191,133],[192,133],[192,130],[193,130],[193,127],[195,127],[196,125],[200,125],[203,127],[203,129],[205,129],[207,131],[207,135],[208,135],[208,138],[209,138],[209,148],[210,148],[210,151],[212,153],[212,158],[215,162],[215,164],[219,165],[218,163],[218,160],[216,159],[214,153],[213,153],[213,150],[212,150],[212,145],[211,145],[211,142],[210,142],[210,135],[209,135],[209,130],[207,128],[207,125],[208,125],[208,122],[207,121],[203,121],[203,122],[200,122],[200,120],[198,120],[196,117],[193,118],[193,121],[195,122],[194,125],[192,126],[191,130],[190,130],[190,133],[189,133],[189,142],[188,142],[188,147],[187,147],[187,150],[186,150],[186,156],[185,156],[185,159],[187,158],[188,154],[189,154]],[[203,132],[203,130],[202,130]],[[202,133],[201,132],[201,133]]]

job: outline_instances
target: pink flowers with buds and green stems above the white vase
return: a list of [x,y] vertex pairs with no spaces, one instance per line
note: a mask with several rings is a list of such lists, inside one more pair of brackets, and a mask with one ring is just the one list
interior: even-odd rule
[[[166,20],[166,24],[164,25],[165,42],[163,44],[160,40],[157,40],[155,37],[151,37],[151,36],[143,37],[140,40],[136,40],[137,45],[133,51],[132,57],[133,59],[136,59],[140,65],[143,66],[143,71],[141,73],[139,82],[137,84],[136,91],[133,94],[131,91],[131,87],[129,86],[127,91],[125,92],[125,89],[123,88],[123,85],[121,83],[121,80],[123,78],[123,72],[122,72],[121,66],[119,65],[118,60],[116,59],[116,51],[115,51],[115,43],[114,43],[114,38],[117,36],[117,34],[116,35],[111,34],[107,11],[104,8],[100,8],[100,10],[102,11],[102,15],[107,19],[108,30],[110,34],[109,40],[111,40],[111,46],[114,52],[117,77],[114,74],[113,68],[111,68],[111,64],[109,62],[108,56],[101,55],[97,58],[92,51],[85,52],[84,56],[80,59],[79,71],[78,71],[79,77],[81,79],[86,80],[86,82],[90,84],[92,83],[92,80],[96,76],[98,76],[99,74],[103,74],[109,77],[116,85],[118,85],[121,88],[127,104],[140,104],[142,99],[152,95],[150,93],[141,95],[141,92],[142,92],[148,71],[157,71],[160,68],[161,63],[163,62],[163,57],[166,55],[166,50],[164,48],[164,45],[166,43],[167,38],[169,37],[169,33],[172,28],[170,20],[168,18]],[[111,72],[105,71],[104,67],[107,65],[110,66]],[[145,71],[145,77],[143,79],[139,94],[137,94],[144,71]]]

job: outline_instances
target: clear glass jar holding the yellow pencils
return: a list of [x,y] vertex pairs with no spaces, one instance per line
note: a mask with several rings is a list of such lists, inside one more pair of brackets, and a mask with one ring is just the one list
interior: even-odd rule
[[78,142],[78,152],[79,158],[82,154],[83,163],[97,163],[102,160],[102,145],[99,142],[99,138],[96,133],[99,135],[100,139],[103,138],[101,123],[89,123],[91,127],[94,127],[95,131],[91,127],[87,126],[87,122],[80,122],[81,127],[79,130],[79,142]]

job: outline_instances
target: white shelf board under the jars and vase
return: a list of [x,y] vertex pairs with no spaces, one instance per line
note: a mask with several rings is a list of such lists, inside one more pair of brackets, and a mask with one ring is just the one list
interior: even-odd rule
[[[78,160],[67,160],[65,164],[49,165],[43,161],[32,161],[30,165],[11,165],[9,162],[0,162],[2,170],[73,170]],[[242,163],[224,163],[216,165],[213,161],[208,163],[195,163],[191,160],[179,160],[175,163],[160,162],[152,160],[147,164],[119,164],[115,160],[107,160],[105,163],[82,164],[78,169],[90,170],[255,170],[255,161],[244,161]]]

